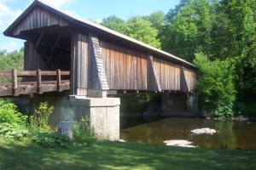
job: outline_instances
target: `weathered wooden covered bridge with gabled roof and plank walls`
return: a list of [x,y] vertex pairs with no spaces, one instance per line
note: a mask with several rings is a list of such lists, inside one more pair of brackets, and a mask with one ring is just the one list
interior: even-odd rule
[[[89,108],[91,119],[94,106],[111,106],[113,114],[119,113],[119,99],[110,101],[107,94],[161,92],[188,97],[195,90],[195,65],[40,1],[26,8],[3,34],[26,42],[24,71],[1,71],[0,77],[12,77],[12,82],[0,83],[0,95],[69,90],[69,105],[62,105],[67,119],[74,119],[68,111],[81,111],[74,109],[81,105]],[[65,116],[55,119],[67,121]]]

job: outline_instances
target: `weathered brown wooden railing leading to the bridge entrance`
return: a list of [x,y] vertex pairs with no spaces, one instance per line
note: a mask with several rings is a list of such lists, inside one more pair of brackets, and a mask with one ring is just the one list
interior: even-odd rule
[[[44,92],[70,89],[70,80],[61,76],[69,76],[70,71],[0,71],[0,77],[11,77],[11,82],[0,82],[0,96],[20,94],[43,94]],[[18,82],[18,77],[36,77],[37,82]],[[55,81],[42,81],[42,77],[55,77]]]

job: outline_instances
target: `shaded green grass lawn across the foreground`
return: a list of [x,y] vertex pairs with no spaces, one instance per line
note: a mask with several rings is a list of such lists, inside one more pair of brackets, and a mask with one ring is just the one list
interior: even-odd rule
[[0,169],[255,169],[255,150],[180,148],[100,141],[44,148],[0,139]]

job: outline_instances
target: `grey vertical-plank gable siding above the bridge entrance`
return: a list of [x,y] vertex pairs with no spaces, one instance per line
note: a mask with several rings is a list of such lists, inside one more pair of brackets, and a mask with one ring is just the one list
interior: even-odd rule
[[49,12],[45,8],[33,8],[26,14],[23,20],[13,29],[14,36],[19,35],[21,31],[28,31],[46,26],[67,26],[67,20],[57,14]]

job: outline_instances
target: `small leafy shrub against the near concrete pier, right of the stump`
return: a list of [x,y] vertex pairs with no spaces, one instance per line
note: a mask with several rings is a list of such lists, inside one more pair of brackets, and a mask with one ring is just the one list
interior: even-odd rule
[[90,119],[85,116],[80,122],[73,123],[73,140],[75,144],[92,145],[96,143],[96,134],[90,127]]

